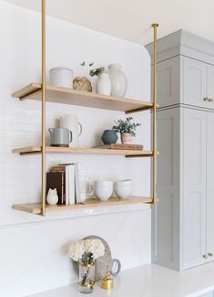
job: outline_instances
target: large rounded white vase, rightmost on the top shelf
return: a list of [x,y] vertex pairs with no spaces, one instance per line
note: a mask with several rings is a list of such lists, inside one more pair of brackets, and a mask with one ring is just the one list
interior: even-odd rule
[[109,79],[111,82],[111,95],[116,97],[124,97],[127,92],[127,77],[121,70],[121,65],[110,64]]

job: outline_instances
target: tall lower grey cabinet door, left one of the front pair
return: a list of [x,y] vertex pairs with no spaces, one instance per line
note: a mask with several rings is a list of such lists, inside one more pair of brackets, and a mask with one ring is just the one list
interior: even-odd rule
[[205,263],[206,111],[184,110],[183,269]]

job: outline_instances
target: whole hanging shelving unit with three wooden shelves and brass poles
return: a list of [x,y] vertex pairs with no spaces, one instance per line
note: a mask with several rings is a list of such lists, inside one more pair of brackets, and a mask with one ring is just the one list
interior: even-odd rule
[[[41,146],[28,146],[15,148],[13,153],[20,155],[41,154],[42,155],[42,197],[41,203],[15,204],[15,210],[24,211],[31,214],[45,216],[46,212],[66,211],[72,209],[86,209],[93,207],[115,207],[131,204],[156,204],[158,202],[156,192],[156,172],[157,172],[157,27],[153,24],[154,29],[154,64],[153,64],[153,102],[135,100],[129,98],[117,98],[98,94],[95,92],[87,92],[73,90],[69,88],[59,88],[52,85],[46,85],[46,0],[42,2],[42,83],[31,83],[24,88],[15,91],[12,96],[24,101],[27,99],[41,101],[42,111],[42,137]],[[132,113],[138,111],[153,111],[153,148],[151,151],[136,150],[113,150],[103,148],[69,148],[69,147],[53,147],[46,146],[46,102],[56,102],[83,106],[87,108],[96,108],[110,111],[122,111]],[[153,181],[152,196],[130,196],[127,199],[119,199],[116,196],[102,202],[97,198],[90,198],[84,204],[77,205],[46,205],[46,154],[97,154],[97,155],[123,155],[129,157],[151,157],[153,159]]]

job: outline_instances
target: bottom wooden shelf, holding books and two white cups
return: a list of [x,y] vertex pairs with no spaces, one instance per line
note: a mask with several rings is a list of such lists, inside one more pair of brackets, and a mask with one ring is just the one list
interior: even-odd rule
[[[151,204],[153,201],[149,197],[139,197],[139,196],[130,196],[127,199],[119,199],[117,196],[109,198],[107,201],[102,202],[97,198],[87,199],[85,204],[76,204],[70,206],[48,206],[46,205],[46,212],[55,212],[55,211],[68,211],[73,209],[86,209],[94,207],[117,207],[124,205],[132,204]],[[41,214],[41,203],[27,203],[27,204],[16,204],[12,207],[13,209],[24,211],[31,214],[39,215]]]

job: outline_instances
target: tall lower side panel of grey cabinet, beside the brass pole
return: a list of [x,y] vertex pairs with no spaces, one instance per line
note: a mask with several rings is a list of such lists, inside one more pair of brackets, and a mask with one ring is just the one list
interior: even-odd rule
[[152,261],[179,270],[179,109],[158,111],[159,202],[152,208]]

